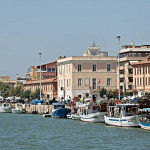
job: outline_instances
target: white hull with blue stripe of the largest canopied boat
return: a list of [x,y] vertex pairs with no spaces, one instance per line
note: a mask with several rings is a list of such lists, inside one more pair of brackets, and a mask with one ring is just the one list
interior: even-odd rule
[[105,123],[107,125],[119,126],[119,127],[139,127],[139,116],[125,116],[121,118],[114,118],[104,116]]

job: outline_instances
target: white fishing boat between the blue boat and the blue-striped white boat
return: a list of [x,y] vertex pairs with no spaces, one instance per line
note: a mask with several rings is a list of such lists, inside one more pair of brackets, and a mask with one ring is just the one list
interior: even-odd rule
[[[79,116],[80,120],[84,122],[104,122],[105,109],[102,109],[102,104],[82,104],[79,106]],[[104,107],[103,107],[104,108]]]

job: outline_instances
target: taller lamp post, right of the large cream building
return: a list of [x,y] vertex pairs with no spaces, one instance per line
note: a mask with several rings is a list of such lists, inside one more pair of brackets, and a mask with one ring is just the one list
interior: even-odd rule
[[118,99],[120,100],[120,36],[117,36],[119,42],[119,49],[118,49]]

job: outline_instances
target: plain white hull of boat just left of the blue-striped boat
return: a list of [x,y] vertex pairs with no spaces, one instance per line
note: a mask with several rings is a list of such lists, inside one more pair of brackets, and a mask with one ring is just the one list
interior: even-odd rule
[[88,115],[80,115],[80,120],[84,122],[104,122],[105,112],[92,113]]

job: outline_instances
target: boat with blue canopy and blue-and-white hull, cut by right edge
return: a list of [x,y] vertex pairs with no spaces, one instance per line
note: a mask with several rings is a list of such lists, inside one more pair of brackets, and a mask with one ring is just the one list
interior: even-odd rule
[[142,117],[139,119],[140,127],[145,130],[150,130],[150,108],[142,109]]

